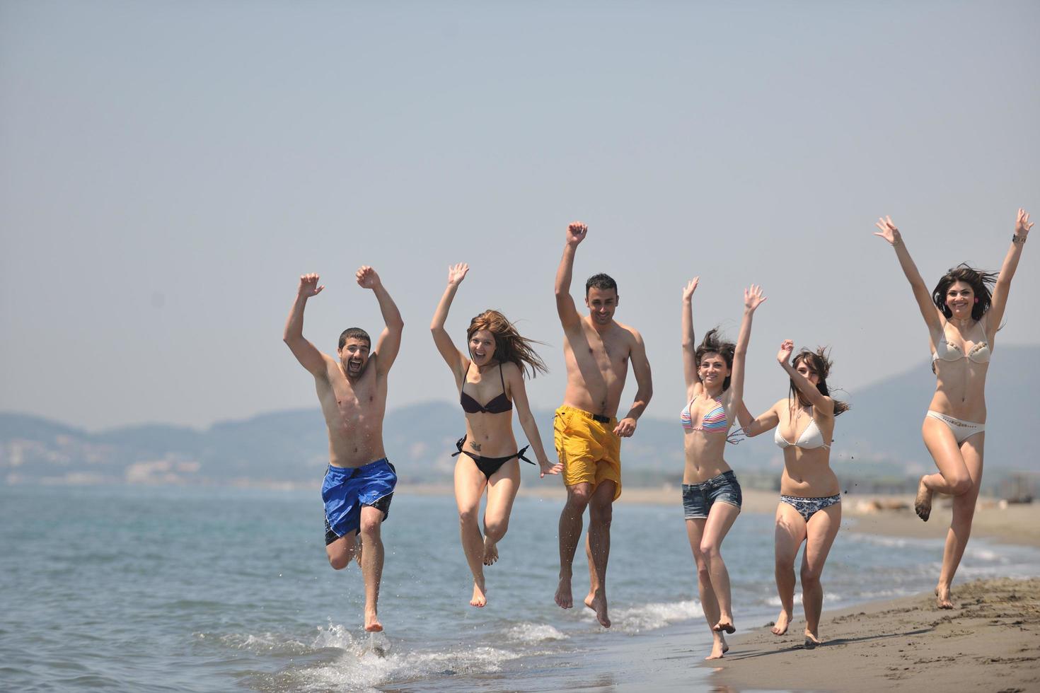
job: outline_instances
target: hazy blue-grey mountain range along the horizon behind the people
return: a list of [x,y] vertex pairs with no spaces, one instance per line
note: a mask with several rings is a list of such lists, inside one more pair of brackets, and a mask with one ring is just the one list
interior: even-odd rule
[[[987,388],[987,469],[1037,468],[1028,436],[1038,420],[1036,406],[1026,399],[1040,390],[1038,359],[1040,346],[996,349]],[[934,378],[926,362],[848,395],[853,408],[838,419],[833,447],[839,476],[905,478],[933,469],[920,439],[920,423]],[[752,411],[766,404],[752,403]],[[671,408],[678,411],[680,404],[652,402],[651,414],[624,442],[627,483],[659,483],[682,474],[678,414],[674,421],[653,418]],[[536,418],[551,456],[552,412],[536,411]],[[402,481],[409,482],[450,481],[454,459],[449,455],[464,430],[458,406],[446,402],[394,409],[384,425],[387,452]],[[519,427],[517,439],[524,439]],[[100,433],[40,417],[0,414],[0,479],[8,484],[313,485],[328,463],[328,446],[316,407],[218,423],[206,430],[150,424]],[[771,436],[727,450],[727,460],[737,470],[772,473],[780,469],[781,459]]]

